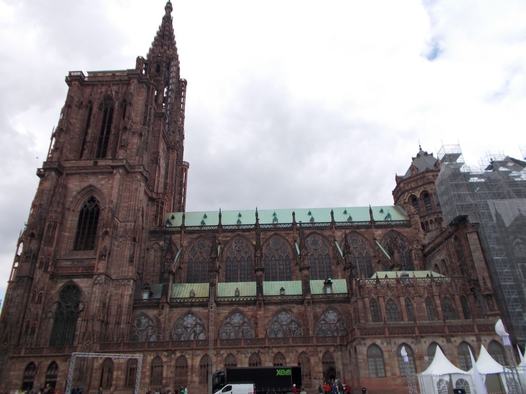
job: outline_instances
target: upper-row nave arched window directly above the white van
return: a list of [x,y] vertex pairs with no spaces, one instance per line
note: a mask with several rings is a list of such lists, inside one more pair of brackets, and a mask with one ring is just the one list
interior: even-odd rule
[[225,282],[251,282],[254,253],[250,244],[241,237],[236,237],[227,245],[224,253],[226,254]]

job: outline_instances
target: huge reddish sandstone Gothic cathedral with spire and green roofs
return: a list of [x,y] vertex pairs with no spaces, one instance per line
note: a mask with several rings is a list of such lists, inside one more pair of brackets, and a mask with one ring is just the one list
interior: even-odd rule
[[431,153],[389,206],[186,212],[172,11],[134,68],[66,77],[0,316],[0,391],[65,390],[74,352],[99,354],[71,374],[90,393],[300,366],[307,392],[401,394],[437,347],[464,370],[481,345],[507,364],[477,228],[444,221]]

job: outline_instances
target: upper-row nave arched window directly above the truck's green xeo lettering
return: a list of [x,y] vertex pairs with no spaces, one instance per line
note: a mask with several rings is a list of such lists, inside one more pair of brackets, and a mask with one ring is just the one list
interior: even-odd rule
[[290,248],[279,237],[272,236],[264,251],[265,281],[290,281]]

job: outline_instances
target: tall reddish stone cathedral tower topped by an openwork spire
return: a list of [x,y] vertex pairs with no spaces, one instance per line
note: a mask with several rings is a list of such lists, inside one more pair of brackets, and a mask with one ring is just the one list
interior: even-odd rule
[[125,340],[135,287],[156,263],[148,234],[185,210],[186,80],[172,12],[168,0],[135,68],[66,77],[0,317],[0,371],[13,348]]

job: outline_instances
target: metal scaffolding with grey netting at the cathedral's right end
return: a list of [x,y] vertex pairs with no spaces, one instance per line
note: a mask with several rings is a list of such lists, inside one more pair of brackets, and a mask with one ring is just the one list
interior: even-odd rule
[[[480,168],[459,145],[443,146],[436,181],[444,221],[478,226],[501,309],[515,340],[526,341],[526,162],[487,154]],[[481,278],[482,279],[482,278]],[[511,327],[510,327],[511,326]]]

